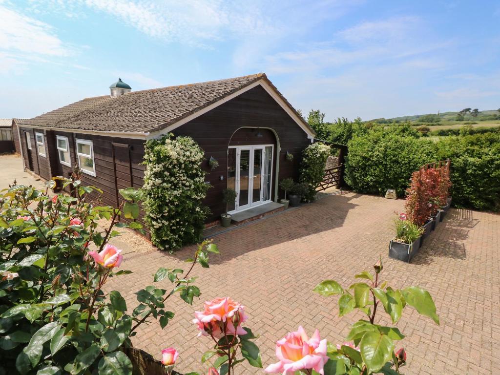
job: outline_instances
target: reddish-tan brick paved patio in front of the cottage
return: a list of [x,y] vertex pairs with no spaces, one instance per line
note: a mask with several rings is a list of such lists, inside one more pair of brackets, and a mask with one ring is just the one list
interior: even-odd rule
[[[327,195],[216,236],[221,254],[212,256],[209,269],[194,272],[202,297],[193,306],[178,297],[169,299],[175,317],[164,330],[157,323],[142,327],[134,345],[156,357],[161,348],[175,346],[181,353],[180,371],[206,372],[200,356],[210,341],[196,337],[193,311],[205,299],[226,295],[246,305],[247,325],[261,335],[256,343],[264,366],[274,361],[274,341],[299,324],[341,342],[360,316],[338,318],[336,297],[311,289],[326,278],[351,283],[353,271],[370,269],[381,253],[389,283],[429,290],[441,321],[437,326],[410,307],[403,314],[398,327],[407,335],[402,341],[408,352],[405,373],[500,373],[500,217],[451,209],[413,263],[406,264],[387,257],[393,211],[402,206],[402,200],[369,195]],[[110,286],[126,295],[131,309],[136,305],[133,292],[150,284],[159,266],[182,266],[191,251],[129,253],[122,266],[133,273]]]

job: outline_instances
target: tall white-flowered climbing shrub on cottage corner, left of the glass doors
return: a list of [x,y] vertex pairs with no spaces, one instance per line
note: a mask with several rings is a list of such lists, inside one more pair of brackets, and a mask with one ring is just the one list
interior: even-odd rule
[[203,150],[192,138],[172,134],[148,140],[144,148],[143,208],[152,243],[173,251],[199,241],[208,214]]

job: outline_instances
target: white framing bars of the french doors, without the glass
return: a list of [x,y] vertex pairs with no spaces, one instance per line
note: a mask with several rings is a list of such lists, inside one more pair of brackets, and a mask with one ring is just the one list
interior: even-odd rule
[[[263,199],[263,193],[264,193],[264,151],[265,147],[271,147],[271,167],[269,171],[269,198],[266,200]],[[240,211],[244,211],[245,209],[253,208],[261,204],[265,204],[268,202],[271,202],[271,193],[272,193],[272,167],[274,165],[274,144],[252,144],[252,145],[241,145],[241,146],[229,146],[229,148],[235,148],[236,149],[236,170],[235,170],[235,181],[234,181],[234,187],[236,190],[236,200],[234,201],[234,209],[232,211],[229,211],[228,213],[236,213]],[[260,199],[256,202],[252,202],[253,200],[253,189],[250,187],[253,187],[253,156],[255,154],[254,150],[255,149],[261,149],[261,160],[260,160]],[[240,156],[241,156],[241,151],[242,150],[249,150],[249,160],[248,160],[248,203],[240,206],[239,205],[239,182],[240,182]]]

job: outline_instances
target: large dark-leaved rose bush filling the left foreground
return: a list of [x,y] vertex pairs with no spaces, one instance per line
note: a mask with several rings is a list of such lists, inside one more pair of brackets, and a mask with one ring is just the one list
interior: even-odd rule
[[[127,202],[114,208],[89,201],[88,193],[98,189],[82,186],[77,174],[57,179],[75,196],[50,198],[54,181],[44,190],[14,183],[0,194],[0,373],[130,374],[130,337],[154,319],[167,325],[174,316],[166,306],[171,295],[192,304],[200,290],[190,273],[195,264],[207,267],[217,247],[199,244],[187,271],[159,268],[153,282],[167,278],[173,286],[138,290],[138,304],[129,310],[118,291],[103,287],[130,273],[121,269],[121,250],[108,241],[120,234],[117,228],[141,230],[131,198],[140,194],[120,191]],[[119,222],[121,215],[132,221]]]

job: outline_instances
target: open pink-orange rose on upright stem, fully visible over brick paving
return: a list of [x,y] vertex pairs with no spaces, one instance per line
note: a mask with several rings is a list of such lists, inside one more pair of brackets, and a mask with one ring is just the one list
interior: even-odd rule
[[[224,336],[224,329],[225,334],[246,334],[241,328],[241,323],[247,319],[245,306],[225,297],[206,301],[203,307],[203,311],[194,311],[196,318],[192,320],[200,330],[198,336],[211,333],[213,337],[220,338]],[[226,321],[227,324],[224,324]]]

